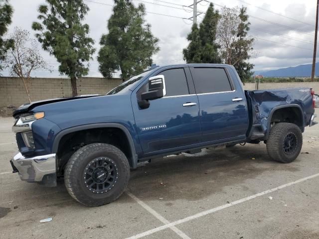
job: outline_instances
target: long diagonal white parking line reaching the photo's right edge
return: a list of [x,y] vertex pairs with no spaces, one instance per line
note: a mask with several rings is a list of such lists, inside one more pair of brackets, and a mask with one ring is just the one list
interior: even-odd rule
[[209,209],[209,210],[207,210],[207,211],[203,211],[203,212],[201,212],[201,213],[197,213],[197,214],[192,215],[192,216],[189,216],[189,217],[187,217],[187,218],[180,219],[180,220],[177,220],[177,221],[175,221],[175,222],[165,224],[165,225],[160,226],[160,227],[158,227],[158,228],[151,229],[151,230],[149,230],[149,231],[146,231],[146,232],[141,233],[141,234],[137,234],[137,235],[132,236],[132,237],[127,238],[127,239],[143,238],[143,237],[149,236],[149,235],[151,235],[151,234],[154,234],[154,233],[160,232],[160,231],[162,231],[162,230],[165,230],[165,229],[167,229],[167,228],[171,228],[171,227],[173,227],[173,226],[176,226],[176,225],[179,225],[179,224],[182,224],[182,223],[186,223],[186,222],[188,222],[188,221],[191,221],[191,220],[194,220],[194,219],[203,217],[203,216],[205,216],[205,215],[208,215],[208,214],[211,214],[211,213],[220,211],[220,210],[225,209],[225,208],[232,207],[232,206],[234,206],[234,205],[236,205],[236,204],[240,204],[240,203],[246,202],[246,201],[248,201],[248,200],[251,200],[251,199],[254,199],[254,198],[263,196],[263,195],[268,194],[268,193],[272,193],[272,192],[278,191],[279,189],[283,189],[283,188],[289,187],[289,186],[291,186],[291,185],[294,185],[294,184],[297,184],[297,183],[301,183],[301,182],[304,182],[304,181],[306,181],[306,180],[308,180],[308,179],[315,178],[315,177],[318,177],[318,176],[319,176],[319,173],[314,174],[314,175],[311,175],[311,176],[308,176],[308,177],[305,177],[305,178],[302,178],[302,179],[299,179],[299,180],[294,181],[294,182],[291,182],[291,183],[287,183],[287,184],[281,185],[281,186],[279,186],[279,187],[277,187],[277,188],[269,189],[269,190],[266,190],[266,191],[264,191],[264,192],[251,195],[251,196],[249,196],[249,197],[239,199],[239,200],[237,200],[237,201],[234,201],[234,202],[231,202],[231,203],[228,203],[228,204],[224,204],[224,205],[219,206],[219,207],[217,207],[217,208],[212,208],[212,209]]

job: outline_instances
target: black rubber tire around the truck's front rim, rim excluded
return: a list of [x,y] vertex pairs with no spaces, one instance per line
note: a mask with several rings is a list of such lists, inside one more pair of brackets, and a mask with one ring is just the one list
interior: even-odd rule
[[[116,166],[118,174],[113,188],[103,194],[89,191],[83,174],[95,158],[105,157]],[[130,165],[125,154],[117,147],[105,143],[92,143],[78,149],[69,159],[64,170],[64,183],[68,193],[79,203],[89,207],[101,206],[118,199],[130,179]]]

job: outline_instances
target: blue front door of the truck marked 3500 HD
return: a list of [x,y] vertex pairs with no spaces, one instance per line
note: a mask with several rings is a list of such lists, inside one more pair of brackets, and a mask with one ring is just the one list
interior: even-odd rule
[[160,150],[178,150],[199,143],[201,138],[198,99],[194,94],[189,68],[165,69],[157,75],[164,75],[166,96],[151,100],[149,108],[141,109],[137,99],[148,90],[148,83],[136,95],[132,94],[136,127],[146,156]]

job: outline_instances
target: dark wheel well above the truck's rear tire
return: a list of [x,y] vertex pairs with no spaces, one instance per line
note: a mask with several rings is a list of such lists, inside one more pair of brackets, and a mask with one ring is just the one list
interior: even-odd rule
[[303,118],[300,109],[297,107],[287,107],[276,110],[272,115],[271,123],[279,122],[294,123],[303,131]]

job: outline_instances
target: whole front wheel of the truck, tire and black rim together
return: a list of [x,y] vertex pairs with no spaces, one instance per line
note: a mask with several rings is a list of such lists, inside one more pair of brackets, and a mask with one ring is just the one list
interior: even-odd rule
[[64,170],[65,187],[79,203],[89,207],[119,198],[130,178],[125,154],[105,143],[88,144],[77,150]]

